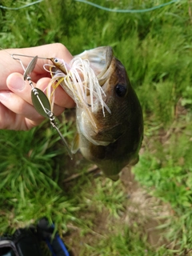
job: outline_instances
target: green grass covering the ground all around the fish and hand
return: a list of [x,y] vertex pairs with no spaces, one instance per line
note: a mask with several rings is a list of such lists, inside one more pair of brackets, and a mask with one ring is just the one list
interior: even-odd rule
[[[1,4],[17,7],[30,2]],[[145,9],[163,2],[97,1],[118,9]],[[46,215],[77,255],[190,255],[191,8],[192,3],[183,0],[142,14],[119,14],[72,0],[45,0],[17,11],[0,9],[2,48],[62,42],[78,54],[113,46],[145,120],[135,178],[150,197],[170,207],[170,217],[159,226],[166,242],[152,246],[145,216],[131,215],[131,222],[126,222],[131,204],[127,185],[87,176],[88,163],[84,166],[79,155],[70,162],[57,134],[44,123],[27,132],[0,131],[1,233]],[[61,129],[68,140],[73,138],[74,122]],[[76,172],[82,177],[68,185],[63,182]]]

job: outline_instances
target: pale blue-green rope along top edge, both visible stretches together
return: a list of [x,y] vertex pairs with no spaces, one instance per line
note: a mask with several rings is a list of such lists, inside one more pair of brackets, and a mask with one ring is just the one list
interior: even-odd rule
[[[6,10],[20,10],[22,8],[33,6],[34,4],[42,2],[42,1],[44,1],[44,0],[38,0],[38,1],[35,1],[35,2],[30,2],[29,4],[27,4],[25,6],[20,6],[20,7],[6,7],[6,6],[1,6],[0,5],[0,8],[6,9]],[[94,6],[94,7],[98,8],[98,9],[102,9],[102,10],[106,10],[106,11],[111,11],[111,12],[114,12],[114,13],[130,13],[130,14],[132,13],[132,14],[135,14],[135,13],[144,13],[144,12],[147,12],[147,11],[156,10],[156,9],[162,8],[164,6],[168,6],[171,3],[178,2],[179,0],[172,0],[170,2],[162,3],[161,5],[158,5],[158,6],[154,6],[154,7],[148,8],[148,9],[140,9],[140,10],[110,9],[110,8],[107,8],[107,7],[104,7],[104,6],[99,6],[96,3],[94,3],[94,2],[89,2],[89,1],[86,1],[86,0],[74,0],[74,1],[86,3],[87,5]]]

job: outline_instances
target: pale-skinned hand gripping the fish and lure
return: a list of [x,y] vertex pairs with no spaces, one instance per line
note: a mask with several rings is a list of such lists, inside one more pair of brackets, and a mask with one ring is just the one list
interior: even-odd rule
[[[26,54],[42,58],[58,57],[69,63],[73,56],[60,43],[23,49],[0,50],[0,129],[30,130],[38,126],[44,118],[34,109],[31,101],[31,87],[23,80],[23,69],[20,62],[14,60],[11,54]],[[26,67],[31,58],[22,58]],[[43,65],[50,63],[46,59],[38,59],[30,77],[34,87],[45,90],[50,82],[50,74],[43,69]],[[74,101],[59,86],[55,93],[54,114],[62,114],[65,108],[74,107]]]

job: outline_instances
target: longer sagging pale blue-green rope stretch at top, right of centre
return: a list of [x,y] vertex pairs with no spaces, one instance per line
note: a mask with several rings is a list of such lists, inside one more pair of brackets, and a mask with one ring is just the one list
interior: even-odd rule
[[83,2],[83,3],[86,3],[90,6],[94,6],[94,7],[97,7],[99,9],[102,9],[102,10],[107,10],[107,11],[112,11],[112,12],[115,12],[115,13],[144,13],[146,11],[150,11],[150,10],[156,10],[158,8],[162,8],[164,6],[168,6],[170,5],[171,3],[174,3],[174,2],[178,2],[179,0],[172,0],[170,2],[166,2],[166,3],[162,3],[161,5],[159,6],[154,6],[154,7],[151,7],[151,8],[148,8],[148,9],[141,9],[141,10],[118,10],[118,9],[110,9],[110,8],[106,8],[104,6],[99,6],[97,5],[96,3],[94,2],[88,2],[86,0],[74,0],[76,2]]

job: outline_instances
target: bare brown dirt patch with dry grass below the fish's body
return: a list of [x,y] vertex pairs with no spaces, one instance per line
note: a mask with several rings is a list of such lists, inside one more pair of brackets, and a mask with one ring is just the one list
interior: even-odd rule
[[[94,172],[98,171],[96,166],[93,166],[92,170],[94,170]],[[90,175],[92,175],[92,173]],[[77,177],[73,175],[72,178]],[[69,179],[66,179],[66,181],[68,180]],[[124,205],[125,210],[121,212],[120,218],[110,217],[107,210],[102,210],[93,220],[94,225],[92,232],[86,235],[81,235],[81,231],[78,230],[77,227],[68,226],[70,232],[68,232],[63,239],[66,244],[70,246],[71,255],[78,256],[79,251],[83,251],[84,246],[95,246],[95,242],[99,239],[105,239],[106,234],[109,235],[109,232],[115,234],[116,227],[125,225],[132,226],[135,222],[138,223],[138,226],[141,226],[142,233],[144,236],[146,234],[147,241],[151,246],[158,247],[167,243],[166,240],[162,238],[162,231],[157,230],[157,227],[165,222],[166,217],[170,215],[170,206],[150,196],[144,188],[139,186],[129,167],[122,170],[121,182],[128,201],[126,206]],[[87,214],[85,218],[93,219],[93,215],[94,209],[93,212]],[[113,228],[111,228],[111,223],[113,223]]]

